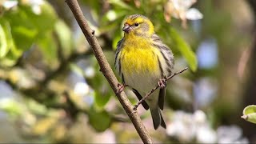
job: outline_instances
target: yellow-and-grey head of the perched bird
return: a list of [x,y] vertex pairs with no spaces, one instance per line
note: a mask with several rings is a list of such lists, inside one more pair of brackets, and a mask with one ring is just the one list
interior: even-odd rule
[[125,32],[125,36],[150,37],[154,34],[154,26],[150,19],[140,14],[127,17],[122,30]]

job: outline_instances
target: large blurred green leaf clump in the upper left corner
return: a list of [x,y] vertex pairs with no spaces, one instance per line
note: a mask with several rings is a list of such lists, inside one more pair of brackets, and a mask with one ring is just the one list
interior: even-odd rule
[[40,7],[41,14],[34,14],[30,6],[19,5],[17,10],[9,10],[3,15],[10,22],[11,35],[18,50],[30,49],[38,38],[54,29],[57,19],[54,9],[47,2]]

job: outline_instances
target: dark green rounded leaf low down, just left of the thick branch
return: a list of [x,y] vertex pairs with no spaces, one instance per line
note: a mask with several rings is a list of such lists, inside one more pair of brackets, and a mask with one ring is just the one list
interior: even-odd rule
[[89,122],[98,132],[102,132],[110,127],[111,118],[105,110],[97,111],[94,107],[90,108],[89,111]]

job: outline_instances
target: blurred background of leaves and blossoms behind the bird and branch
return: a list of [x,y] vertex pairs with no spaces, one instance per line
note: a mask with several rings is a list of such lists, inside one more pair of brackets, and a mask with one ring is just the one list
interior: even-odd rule
[[[256,104],[256,1],[78,2],[113,70],[130,14],[151,19],[174,71],[189,67],[168,82],[166,130],[138,107],[154,142],[256,142],[241,118]],[[0,126],[0,142],[142,142],[63,0],[0,0]]]

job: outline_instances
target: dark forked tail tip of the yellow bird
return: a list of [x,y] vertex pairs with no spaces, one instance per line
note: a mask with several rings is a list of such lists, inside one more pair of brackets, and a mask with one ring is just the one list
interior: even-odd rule
[[150,109],[150,112],[153,119],[154,130],[157,130],[160,125],[166,129],[166,122],[162,118],[161,110],[157,107],[155,109]]

